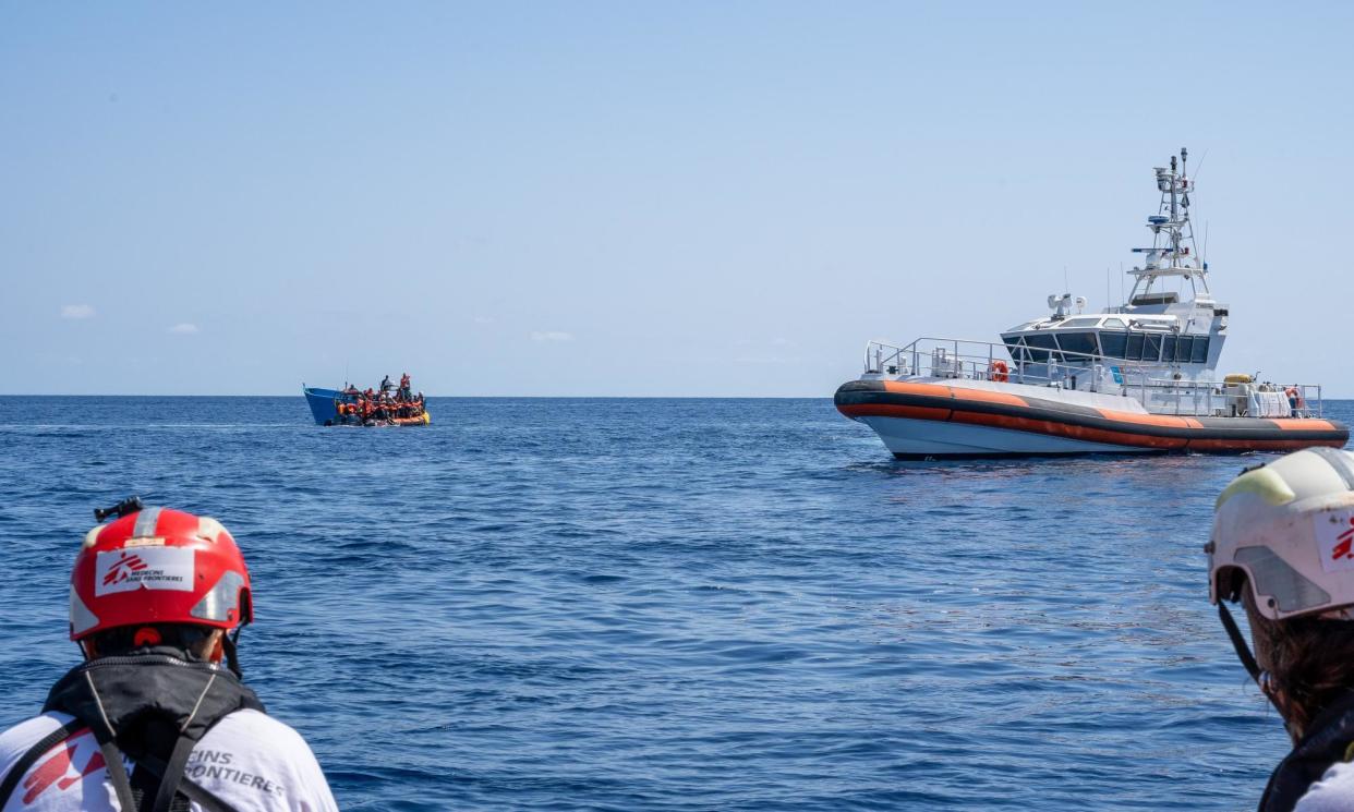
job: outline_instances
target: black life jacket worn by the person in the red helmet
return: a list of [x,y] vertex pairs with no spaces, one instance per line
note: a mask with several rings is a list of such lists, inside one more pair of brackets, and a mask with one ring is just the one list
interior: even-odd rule
[[[73,732],[89,728],[126,812],[232,808],[184,775],[194,746],[236,710],[263,712],[259,697],[225,666],[190,662],[169,647],[81,663],[51,687],[43,713],[73,716],[31,747],[0,784],[0,809],[32,765]],[[122,754],[135,763],[127,778]]]

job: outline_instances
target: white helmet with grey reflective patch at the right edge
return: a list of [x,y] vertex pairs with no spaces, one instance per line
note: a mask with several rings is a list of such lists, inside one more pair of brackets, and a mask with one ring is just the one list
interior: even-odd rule
[[1354,620],[1354,453],[1309,448],[1243,472],[1205,549],[1212,604],[1250,589],[1270,620]]

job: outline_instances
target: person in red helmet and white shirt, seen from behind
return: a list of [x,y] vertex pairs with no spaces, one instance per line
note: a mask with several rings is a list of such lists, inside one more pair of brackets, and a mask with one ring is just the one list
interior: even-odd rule
[[240,679],[249,571],[215,520],[137,498],[70,575],[85,662],[0,734],[0,812],[337,809],[314,754]]

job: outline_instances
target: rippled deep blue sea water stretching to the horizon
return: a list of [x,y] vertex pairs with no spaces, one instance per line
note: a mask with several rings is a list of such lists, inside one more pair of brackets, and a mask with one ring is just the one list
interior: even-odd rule
[[[345,809],[1242,809],[1286,751],[1208,605],[1261,456],[896,463],[827,399],[0,398],[0,724],[91,509],[215,516],[248,681]],[[1354,402],[1327,413],[1354,418]]]

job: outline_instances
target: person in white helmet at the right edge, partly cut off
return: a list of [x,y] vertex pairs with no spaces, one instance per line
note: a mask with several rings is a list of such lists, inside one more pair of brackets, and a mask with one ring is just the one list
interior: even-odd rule
[[1261,812],[1354,809],[1354,453],[1313,448],[1243,472],[1205,549],[1209,600],[1293,740]]

